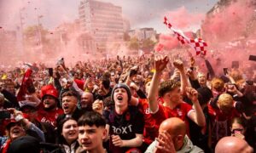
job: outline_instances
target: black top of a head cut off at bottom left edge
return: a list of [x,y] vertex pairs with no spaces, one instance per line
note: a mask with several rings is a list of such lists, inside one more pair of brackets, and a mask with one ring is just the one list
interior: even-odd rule
[[7,153],[39,153],[39,140],[32,136],[23,136],[15,139],[10,145]]

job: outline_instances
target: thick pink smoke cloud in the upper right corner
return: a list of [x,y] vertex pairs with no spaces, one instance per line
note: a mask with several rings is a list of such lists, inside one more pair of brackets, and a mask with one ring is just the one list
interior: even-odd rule
[[211,42],[222,42],[250,35],[247,31],[250,28],[249,21],[255,14],[255,7],[250,3],[253,3],[253,0],[237,1],[207,15],[202,26],[204,37]]

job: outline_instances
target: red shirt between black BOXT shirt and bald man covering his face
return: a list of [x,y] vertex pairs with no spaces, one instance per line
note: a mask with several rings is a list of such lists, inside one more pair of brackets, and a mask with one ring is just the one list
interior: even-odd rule
[[144,142],[146,144],[151,144],[155,138],[158,137],[158,129],[160,127],[160,121],[165,120],[166,116],[164,113],[157,111],[152,114],[149,110],[148,99],[139,99],[138,102],[139,111],[143,113],[144,118]]

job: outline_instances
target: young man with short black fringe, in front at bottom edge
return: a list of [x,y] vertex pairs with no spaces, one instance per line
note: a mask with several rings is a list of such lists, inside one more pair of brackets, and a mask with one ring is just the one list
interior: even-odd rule
[[79,118],[79,144],[78,150],[88,153],[105,153],[102,141],[107,137],[106,122],[101,114],[90,111]]

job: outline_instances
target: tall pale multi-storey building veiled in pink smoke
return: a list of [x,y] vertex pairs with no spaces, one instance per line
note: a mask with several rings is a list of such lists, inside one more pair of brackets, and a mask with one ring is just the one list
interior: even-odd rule
[[106,54],[108,43],[123,42],[124,20],[119,6],[82,0],[79,4],[79,22],[81,30],[94,40],[96,52]]

